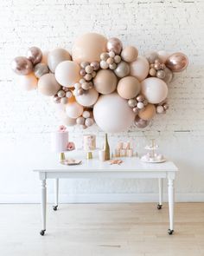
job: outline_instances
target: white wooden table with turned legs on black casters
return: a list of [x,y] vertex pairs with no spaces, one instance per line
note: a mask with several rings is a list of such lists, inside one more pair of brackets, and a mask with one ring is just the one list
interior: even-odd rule
[[[82,158],[81,158],[82,159]],[[97,159],[84,160],[78,166],[64,166],[56,162],[35,169],[41,181],[41,235],[46,231],[46,204],[47,204],[47,179],[55,179],[54,210],[58,207],[59,179],[158,179],[159,203],[158,209],[163,205],[163,179],[168,179],[169,193],[169,230],[174,232],[174,180],[178,168],[171,161],[163,163],[144,163],[136,157],[122,158],[123,163],[110,165],[109,161],[101,162]]]

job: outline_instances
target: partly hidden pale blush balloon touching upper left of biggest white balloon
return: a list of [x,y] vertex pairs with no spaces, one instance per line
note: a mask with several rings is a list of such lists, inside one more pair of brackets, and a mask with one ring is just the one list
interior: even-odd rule
[[87,90],[83,95],[76,96],[76,101],[84,107],[91,107],[99,98],[99,93],[95,89]]

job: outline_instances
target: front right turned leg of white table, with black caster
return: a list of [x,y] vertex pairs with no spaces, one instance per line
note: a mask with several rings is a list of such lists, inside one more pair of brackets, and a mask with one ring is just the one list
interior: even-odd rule
[[169,193],[169,230],[168,233],[174,233],[174,180],[170,177],[168,178],[168,193]]

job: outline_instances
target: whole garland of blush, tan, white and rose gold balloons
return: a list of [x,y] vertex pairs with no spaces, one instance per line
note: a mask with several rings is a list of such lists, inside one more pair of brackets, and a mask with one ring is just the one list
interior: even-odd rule
[[67,126],[92,126],[105,132],[121,132],[131,127],[145,128],[156,115],[166,113],[168,83],[173,72],[188,66],[180,52],[149,52],[138,56],[134,46],[123,47],[110,39],[87,33],[66,49],[42,53],[29,48],[27,56],[17,56],[12,69],[20,75],[25,89],[38,89],[65,106]]

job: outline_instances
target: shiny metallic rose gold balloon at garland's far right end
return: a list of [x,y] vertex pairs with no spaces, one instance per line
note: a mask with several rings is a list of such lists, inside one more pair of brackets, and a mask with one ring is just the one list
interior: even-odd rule
[[171,71],[181,72],[188,66],[188,57],[185,56],[182,52],[176,52],[169,56],[165,64]]

